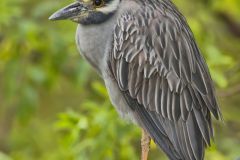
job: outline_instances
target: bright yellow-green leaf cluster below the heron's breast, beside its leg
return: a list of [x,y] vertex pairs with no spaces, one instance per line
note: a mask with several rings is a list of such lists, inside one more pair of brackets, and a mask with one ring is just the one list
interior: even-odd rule
[[131,146],[138,144],[132,137],[140,134],[116,118],[118,115],[107,100],[104,87],[98,82],[93,84],[94,91],[104,99],[86,100],[81,105],[85,108],[81,113],[71,110],[61,113],[55,125],[61,133],[60,143],[71,151],[68,154],[74,159],[138,159]]

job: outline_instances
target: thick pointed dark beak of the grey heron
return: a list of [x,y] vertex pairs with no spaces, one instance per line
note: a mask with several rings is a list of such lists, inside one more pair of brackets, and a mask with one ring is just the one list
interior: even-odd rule
[[53,13],[48,19],[49,20],[64,20],[72,19],[81,13],[85,12],[87,9],[80,2],[74,2],[57,12]]

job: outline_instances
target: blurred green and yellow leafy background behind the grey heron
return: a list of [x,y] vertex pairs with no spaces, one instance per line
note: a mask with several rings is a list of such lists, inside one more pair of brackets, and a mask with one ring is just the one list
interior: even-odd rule
[[[80,57],[76,24],[48,16],[70,0],[0,1],[0,160],[138,160],[122,121]],[[210,67],[225,123],[207,160],[240,158],[240,1],[174,0]],[[159,158],[156,158],[159,157]],[[152,145],[150,159],[166,157]]]

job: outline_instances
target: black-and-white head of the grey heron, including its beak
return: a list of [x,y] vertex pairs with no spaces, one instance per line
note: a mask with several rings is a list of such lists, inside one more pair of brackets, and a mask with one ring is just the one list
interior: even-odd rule
[[50,20],[69,19],[88,25],[99,24],[114,15],[121,0],[77,0],[52,14]]

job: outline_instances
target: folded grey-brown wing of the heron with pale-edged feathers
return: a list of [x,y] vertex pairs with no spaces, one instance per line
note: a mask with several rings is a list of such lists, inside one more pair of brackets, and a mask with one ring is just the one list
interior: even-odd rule
[[118,19],[109,67],[135,118],[167,155],[202,160],[213,137],[211,113],[221,116],[212,80],[185,19],[171,2],[150,1]]

